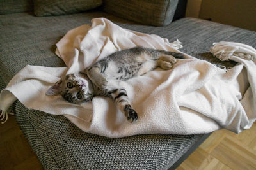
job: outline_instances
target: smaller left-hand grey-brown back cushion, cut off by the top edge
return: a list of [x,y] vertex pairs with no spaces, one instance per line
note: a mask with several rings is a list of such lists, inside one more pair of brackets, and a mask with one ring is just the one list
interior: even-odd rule
[[34,13],[38,17],[66,15],[91,10],[101,4],[102,0],[34,0]]

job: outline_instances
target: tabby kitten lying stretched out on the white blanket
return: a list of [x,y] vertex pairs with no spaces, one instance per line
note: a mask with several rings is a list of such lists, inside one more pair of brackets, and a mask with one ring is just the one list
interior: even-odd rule
[[84,71],[62,77],[47,90],[46,95],[61,94],[65,100],[76,104],[92,101],[93,96],[111,97],[127,120],[135,122],[138,114],[132,108],[126,90],[118,82],[141,76],[156,67],[172,69],[176,58],[184,59],[184,56],[140,46],[120,50],[95,62]]

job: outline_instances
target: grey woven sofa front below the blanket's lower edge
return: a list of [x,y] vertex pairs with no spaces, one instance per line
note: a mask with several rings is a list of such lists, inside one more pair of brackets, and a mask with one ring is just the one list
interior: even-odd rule
[[[24,110],[26,108],[18,103],[14,111],[20,113]],[[16,118],[23,129],[29,126],[23,119],[28,119],[37,131],[40,129],[38,133],[44,143],[32,147],[37,152],[40,150],[40,160],[47,159],[42,162],[45,169],[166,169],[201,137],[152,134],[115,139],[87,134],[65,117],[45,115],[35,110],[16,115]],[[28,137],[32,140],[36,136],[28,133]]]

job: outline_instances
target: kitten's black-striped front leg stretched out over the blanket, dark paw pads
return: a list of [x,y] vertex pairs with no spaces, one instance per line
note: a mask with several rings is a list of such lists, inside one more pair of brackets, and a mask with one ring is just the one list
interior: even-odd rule
[[125,89],[112,87],[111,90],[108,90],[108,94],[115,101],[117,108],[127,117],[127,120],[130,122],[138,120],[138,114],[132,108]]

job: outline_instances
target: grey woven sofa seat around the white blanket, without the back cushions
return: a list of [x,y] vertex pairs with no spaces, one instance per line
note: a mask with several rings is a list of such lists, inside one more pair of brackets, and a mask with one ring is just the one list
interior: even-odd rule
[[[151,27],[103,12],[52,17],[34,17],[32,13],[0,15],[0,88],[26,64],[65,66],[54,54],[54,44],[68,30],[90,24],[95,17],[106,17],[121,27],[158,34],[169,41],[178,38],[184,45],[183,52],[227,67],[236,63],[212,57],[209,49],[213,42],[237,41],[256,47],[255,32],[195,18]],[[81,131],[62,115],[28,110],[19,102],[13,104],[12,110],[45,169],[166,169],[202,137],[152,134],[106,138]]]

